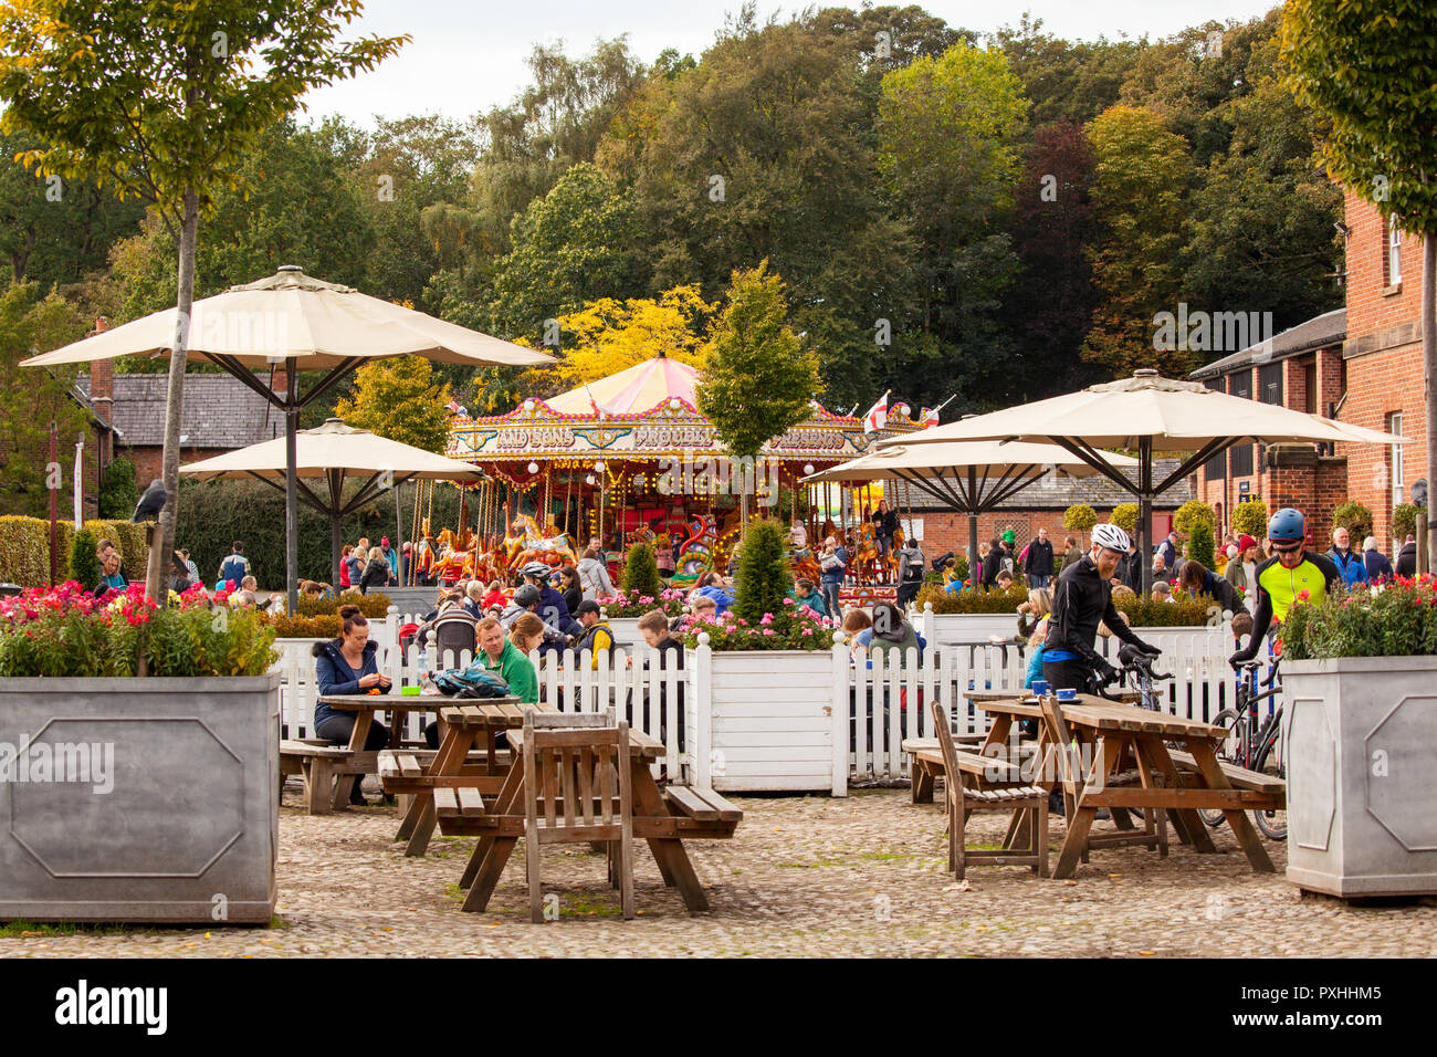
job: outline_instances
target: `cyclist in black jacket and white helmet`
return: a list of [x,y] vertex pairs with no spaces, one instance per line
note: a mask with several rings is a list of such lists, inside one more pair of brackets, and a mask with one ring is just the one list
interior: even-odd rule
[[1117,525],[1098,525],[1092,531],[1092,551],[1059,574],[1053,588],[1053,613],[1048,618],[1048,639],[1043,641],[1043,679],[1055,690],[1085,690],[1089,677],[1106,683],[1118,676],[1118,670],[1094,649],[1099,621],[1144,653],[1161,653],[1132,634],[1112,605],[1109,581],[1127,552],[1127,532]]

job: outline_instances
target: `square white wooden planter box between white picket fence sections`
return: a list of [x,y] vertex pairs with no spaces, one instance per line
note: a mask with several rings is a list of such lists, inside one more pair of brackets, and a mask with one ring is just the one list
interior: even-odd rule
[[[831,791],[832,651],[718,650],[710,663],[707,755],[713,788],[721,792]],[[846,722],[846,716],[844,719]],[[848,746],[841,752],[846,771]]]

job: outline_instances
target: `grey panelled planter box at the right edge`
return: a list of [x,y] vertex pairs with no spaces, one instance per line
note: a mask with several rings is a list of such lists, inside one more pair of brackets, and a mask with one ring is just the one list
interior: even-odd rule
[[1437,893],[1437,657],[1293,660],[1282,680],[1288,879]]

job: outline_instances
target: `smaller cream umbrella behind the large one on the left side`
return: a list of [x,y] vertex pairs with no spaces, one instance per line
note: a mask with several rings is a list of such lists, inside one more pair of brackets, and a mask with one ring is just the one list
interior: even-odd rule
[[[286,472],[283,437],[180,467],[180,473],[197,480],[253,479],[263,480],[280,492],[285,490]],[[372,502],[381,492],[407,480],[484,479],[483,470],[468,463],[401,444],[369,430],[356,430],[339,418],[326,418],[323,426],[299,430],[295,434],[295,476],[299,500],[329,518],[329,554],[336,588],[341,580],[339,525],[343,518]],[[343,498],[346,477],[362,480],[359,490],[348,500]],[[315,485],[322,482],[320,486],[328,495],[316,493],[310,488],[312,482]]]

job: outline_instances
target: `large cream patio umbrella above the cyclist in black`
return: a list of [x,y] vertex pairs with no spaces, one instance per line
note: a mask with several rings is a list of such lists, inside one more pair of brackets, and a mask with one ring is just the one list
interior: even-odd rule
[[[1138,548],[1147,555],[1152,499],[1198,466],[1242,443],[1359,443],[1400,444],[1403,437],[1217,393],[1194,381],[1135,371],[1131,378],[1089,385],[1032,404],[960,418],[947,426],[878,441],[918,446],[954,440],[1050,441],[1082,459],[1138,500]],[[1101,447],[1138,452],[1138,480],[1109,462]],[[1152,482],[1154,452],[1193,452],[1161,482]],[[1142,562],[1142,590],[1152,569]]]

